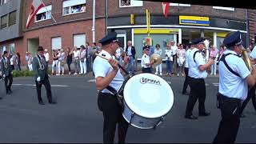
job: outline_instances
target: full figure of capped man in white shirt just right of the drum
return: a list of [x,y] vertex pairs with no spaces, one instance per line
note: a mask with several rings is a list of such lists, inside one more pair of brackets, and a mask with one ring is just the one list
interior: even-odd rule
[[202,56],[204,49],[205,38],[196,38],[192,42],[195,48],[191,51],[188,58],[189,62],[189,84],[190,84],[190,97],[186,105],[185,118],[196,119],[197,117],[192,114],[194,104],[198,100],[199,116],[209,116],[210,113],[206,112],[206,83],[204,78],[207,77],[206,70],[214,63],[214,59],[210,59],[207,63]]

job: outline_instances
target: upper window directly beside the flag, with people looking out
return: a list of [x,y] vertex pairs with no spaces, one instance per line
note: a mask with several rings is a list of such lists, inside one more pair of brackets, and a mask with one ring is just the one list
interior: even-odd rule
[[50,18],[51,18],[51,5],[42,7],[42,9],[38,10],[38,13],[35,16],[35,22],[44,21]]

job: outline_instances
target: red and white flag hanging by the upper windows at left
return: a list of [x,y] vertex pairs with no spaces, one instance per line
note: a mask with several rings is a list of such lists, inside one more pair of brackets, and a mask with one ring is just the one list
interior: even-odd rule
[[44,4],[41,0],[32,0],[32,3],[30,5],[30,14],[26,21],[27,29],[33,22],[35,14],[37,14],[38,10],[40,10],[43,6],[44,6]]

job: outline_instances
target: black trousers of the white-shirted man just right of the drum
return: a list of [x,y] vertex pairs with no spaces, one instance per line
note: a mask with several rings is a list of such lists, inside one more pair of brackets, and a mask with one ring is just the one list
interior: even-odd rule
[[198,111],[199,114],[205,113],[205,101],[206,101],[206,84],[203,78],[189,78],[190,85],[190,97],[186,104],[186,115],[192,114],[195,102],[199,103]]

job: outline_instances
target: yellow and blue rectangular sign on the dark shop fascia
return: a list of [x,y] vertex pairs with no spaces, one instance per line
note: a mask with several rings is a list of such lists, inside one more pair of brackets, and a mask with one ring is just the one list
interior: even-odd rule
[[179,16],[180,25],[210,26],[209,17]]

